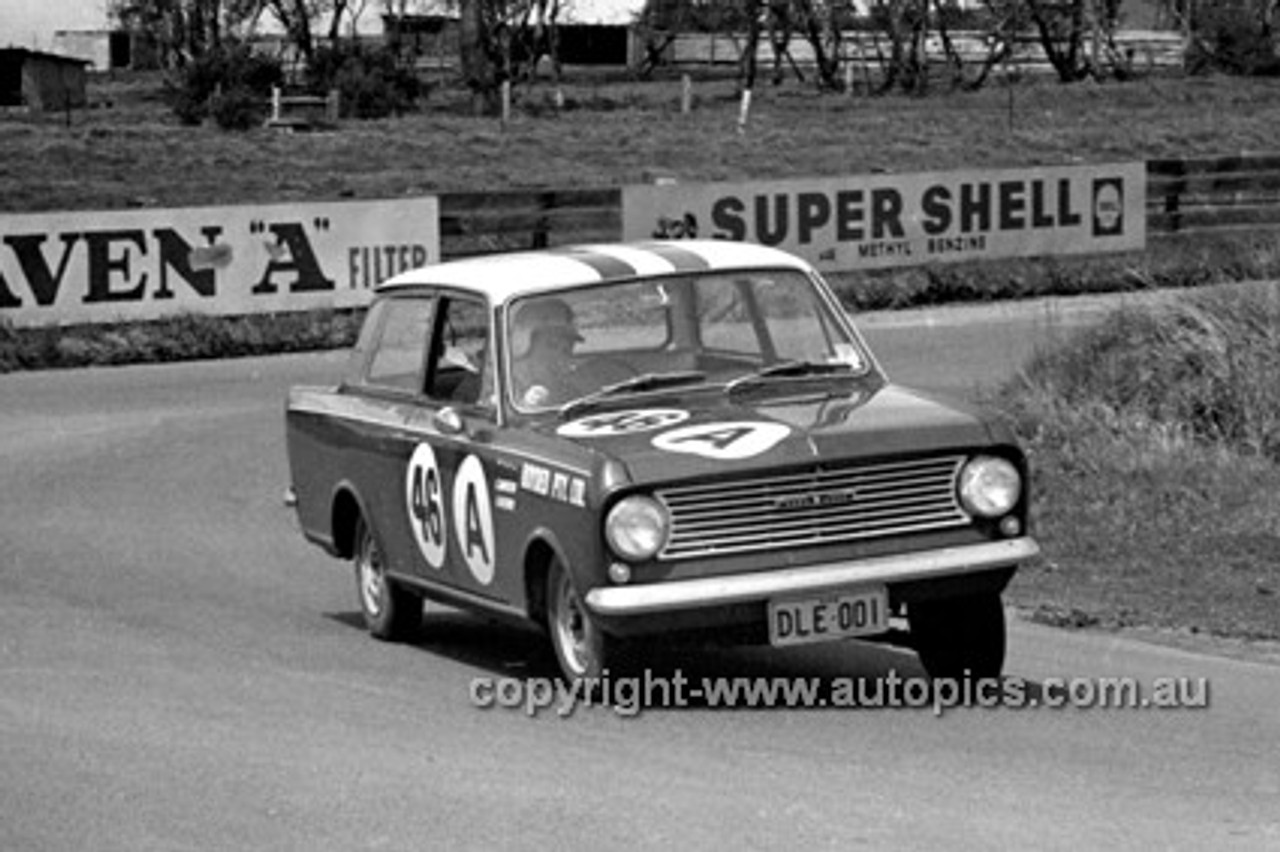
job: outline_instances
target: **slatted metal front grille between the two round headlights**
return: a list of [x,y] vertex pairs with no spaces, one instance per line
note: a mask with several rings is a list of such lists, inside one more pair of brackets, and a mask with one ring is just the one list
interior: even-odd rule
[[660,489],[671,509],[663,559],[804,548],[959,527],[963,455],[806,468]]

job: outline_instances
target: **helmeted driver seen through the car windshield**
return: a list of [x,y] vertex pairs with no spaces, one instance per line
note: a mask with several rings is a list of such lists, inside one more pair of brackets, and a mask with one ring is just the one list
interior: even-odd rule
[[522,406],[553,406],[573,390],[573,347],[582,342],[573,311],[562,299],[543,298],[520,306],[511,325],[511,371]]

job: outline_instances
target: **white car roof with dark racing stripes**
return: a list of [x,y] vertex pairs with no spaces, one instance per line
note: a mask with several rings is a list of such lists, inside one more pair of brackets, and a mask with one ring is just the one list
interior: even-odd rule
[[494,304],[520,296],[584,284],[713,270],[809,265],[783,251],[722,239],[564,246],[534,252],[485,255],[402,272],[379,292],[434,284],[483,292]]

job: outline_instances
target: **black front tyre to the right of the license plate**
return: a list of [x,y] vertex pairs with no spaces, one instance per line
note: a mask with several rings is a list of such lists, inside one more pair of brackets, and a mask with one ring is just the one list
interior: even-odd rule
[[998,678],[1005,668],[1005,608],[998,594],[911,604],[908,622],[931,678]]

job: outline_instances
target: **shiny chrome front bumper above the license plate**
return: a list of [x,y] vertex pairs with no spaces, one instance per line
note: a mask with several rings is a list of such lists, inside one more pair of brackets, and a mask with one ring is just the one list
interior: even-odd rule
[[941,580],[1016,564],[1039,553],[1030,536],[980,545],[832,562],[750,574],[609,586],[586,594],[599,615],[643,615],[767,600],[777,595],[824,592],[867,583]]

